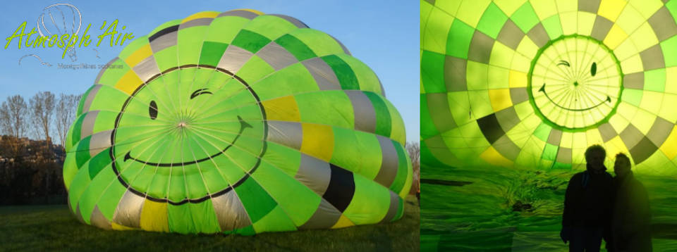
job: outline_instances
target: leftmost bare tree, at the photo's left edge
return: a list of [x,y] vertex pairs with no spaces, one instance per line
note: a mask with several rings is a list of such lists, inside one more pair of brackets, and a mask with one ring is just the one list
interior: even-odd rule
[[10,135],[10,146],[14,156],[18,156],[22,138],[28,130],[28,106],[20,95],[10,96],[0,106],[0,128]]

